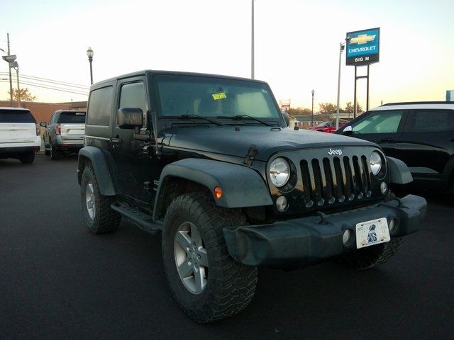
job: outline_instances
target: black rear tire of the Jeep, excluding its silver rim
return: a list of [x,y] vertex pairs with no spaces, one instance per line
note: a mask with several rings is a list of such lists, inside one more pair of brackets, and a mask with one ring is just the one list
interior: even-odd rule
[[[94,196],[94,218],[90,217],[87,208],[86,191],[89,183],[93,186]],[[106,234],[114,232],[121,222],[121,215],[111,209],[111,204],[114,202],[114,196],[103,196],[99,193],[98,181],[92,166],[85,166],[82,173],[82,181],[80,183],[80,198],[82,203],[82,214],[87,228],[93,234]]]

